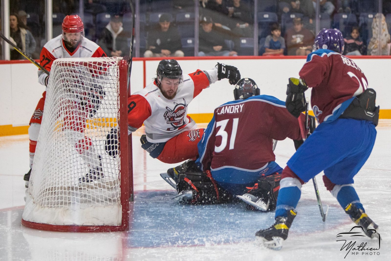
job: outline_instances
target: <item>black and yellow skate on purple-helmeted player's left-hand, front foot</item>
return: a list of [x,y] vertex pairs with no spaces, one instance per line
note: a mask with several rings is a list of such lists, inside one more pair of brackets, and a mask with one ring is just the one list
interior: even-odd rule
[[262,239],[262,243],[267,248],[280,250],[282,241],[287,239],[289,228],[292,225],[297,212],[294,209],[287,211],[288,217],[278,216],[274,224],[266,229],[261,229],[255,233],[255,236]]

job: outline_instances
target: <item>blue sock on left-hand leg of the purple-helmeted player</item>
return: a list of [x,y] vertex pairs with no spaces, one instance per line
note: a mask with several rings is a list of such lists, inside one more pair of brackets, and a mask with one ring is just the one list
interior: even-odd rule
[[296,186],[280,188],[278,191],[276,214],[274,214],[274,218],[278,216],[287,217],[287,209],[296,208],[300,196],[301,190]]

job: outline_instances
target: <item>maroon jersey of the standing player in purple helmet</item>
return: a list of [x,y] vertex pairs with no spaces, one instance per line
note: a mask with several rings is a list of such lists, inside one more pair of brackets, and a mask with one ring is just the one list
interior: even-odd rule
[[353,97],[368,88],[364,73],[352,60],[326,49],[308,54],[299,75],[312,87],[311,105],[319,123],[337,119]]

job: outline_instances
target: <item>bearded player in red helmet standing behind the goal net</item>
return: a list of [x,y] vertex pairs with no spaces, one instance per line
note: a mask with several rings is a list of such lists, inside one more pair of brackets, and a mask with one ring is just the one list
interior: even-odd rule
[[[65,16],[62,24],[63,33],[56,38],[53,38],[47,42],[41,51],[40,55],[40,65],[50,72],[52,63],[58,58],[81,58],[81,57],[106,57],[104,51],[91,40],[88,40],[84,37],[84,25],[81,18],[77,15],[67,15]],[[45,91],[42,94],[42,98],[38,101],[38,105],[30,119],[29,127],[29,150],[30,150],[30,170],[24,176],[26,181],[26,186],[28,186],[28,181],[30,179],[31,170],[33,167],[33,159],[35,154],[35,149],[38,141],[39,129],[41,128],[41,121],[43,115],[43,108],[45,104],[46,92],[50,91],[51,88],[55,86],[48,86],[50,76],[45,74],[45,72],[38,71],[38,82],[46,86]],[[72,79],[71,79],[72,80]],[[85,112],[86,116],[91,113],[95,113],[97,106],[99,106],[100,100],[104,95],[101,89],[96,89],[95,87],[90,88],[93,90],[87,91],[89,95],[89,105],[88,111]],[[87,95],[87,96],[88,96]],[[86,95],[74,94],[74,96],[86,97]],[[82,103],[81,101],[80,103]],[[85,102],[85,101],[84,101]],[[85,107],[85,106],[81,106]],[[93,107],[93,108],[92,108]],[[77,132],[82,132],[82,127],[74,128]],[[84,136],[84,135],[83,135]],[[81,136],[78,141],[75,141],[75,149],[79,154],[85,155],[88,154],[85,148],[91,147],[91,141],[87,137]],[[84,149],[82,149],[84,148]],[[96,179],[96,176],[99,176],[100,173],[97,173],[100,169],[100,159],[93,160],[95,164],[90,166],[91,170],[86,177],[83,177],[83,181],[91,181]]]

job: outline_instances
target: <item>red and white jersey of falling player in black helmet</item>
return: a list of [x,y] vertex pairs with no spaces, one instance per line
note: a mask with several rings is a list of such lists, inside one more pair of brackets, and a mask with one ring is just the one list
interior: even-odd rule
[[197,124],[187,115],[188,105],[216,80],[216,68],[185,74],[172,100],[163,96],[155,81],[151,82],[128,98],[129,133],[144,123],[147,140],[158,143],[168,141],[181,132],[196,129]]

